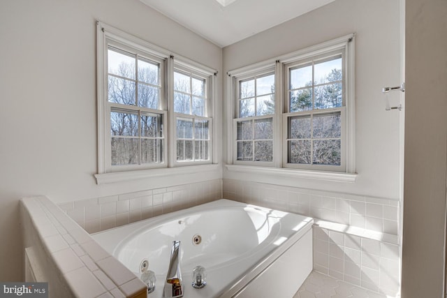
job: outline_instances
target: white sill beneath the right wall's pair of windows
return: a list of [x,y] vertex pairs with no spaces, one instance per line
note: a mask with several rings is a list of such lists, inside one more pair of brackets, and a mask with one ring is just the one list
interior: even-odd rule
[[296,177],[305,179],[317,179],[336,182],[356,182],[358,174],[344,172],[317,172],[312,170],[296,170],[276,167],[253,167],[247,165],[226,165],[230,172],[244,172],[247,174],[275,174],[285,177]]

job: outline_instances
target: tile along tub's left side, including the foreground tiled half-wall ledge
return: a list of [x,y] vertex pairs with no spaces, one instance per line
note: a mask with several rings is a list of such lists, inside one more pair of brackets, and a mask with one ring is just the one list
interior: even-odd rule
[[59,206],[46,197],[23,198],[24,247],[27,263],[35,266],[27,276],[48,281],[52,297],[146,297],[144,283],[101,248],[89,233],[220,198],[221,179]]

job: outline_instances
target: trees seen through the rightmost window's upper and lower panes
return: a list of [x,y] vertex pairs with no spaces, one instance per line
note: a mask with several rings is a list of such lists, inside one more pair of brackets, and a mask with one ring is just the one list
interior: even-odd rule
[[[312,84],[312,81],[309,81],[305,83],[305,87],[290,91],[290,105],[291,112],[341,107],[342,70],[334,68],[319,82]],[[289,126],[289,163],[340,165],[342,157],[340,112],[291,117]]]

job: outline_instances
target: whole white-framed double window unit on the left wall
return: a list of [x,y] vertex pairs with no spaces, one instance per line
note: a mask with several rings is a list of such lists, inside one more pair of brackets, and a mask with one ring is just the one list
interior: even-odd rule
[[97,55],[98,175],[212,163],[215,70],[99,22]]

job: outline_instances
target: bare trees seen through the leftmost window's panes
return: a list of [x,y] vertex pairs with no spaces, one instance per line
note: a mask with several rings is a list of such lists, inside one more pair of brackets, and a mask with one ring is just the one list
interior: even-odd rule
[[[114,75],[108,76],[108,100],[122,105],[158,109],[160,91],[154,84],[158,83],[158,73],[149,68],[139,68],[139,80],[128,79],[134,75],[134,64],[119,64]],[[162,161],[162,144],[157,139],[163,134],[162,127],[161,117],[157,114],[142,112],[138,117],[138,111],[113,108],[110,112],[112,165]]]

